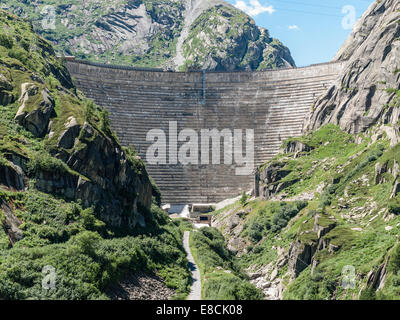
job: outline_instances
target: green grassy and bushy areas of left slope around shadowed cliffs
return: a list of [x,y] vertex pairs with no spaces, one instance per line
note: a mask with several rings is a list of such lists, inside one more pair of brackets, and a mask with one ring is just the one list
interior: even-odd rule
[[[54,69],[51,68],[54,67]],[[13,85],[19,97],[21,83],[39,76],[56,101],[55,128],[62,128],[73,115],[79,123],[90,123],[110,135],[106,114],[74,88],[66,88],[57,78],[63,71],[51,45],[37,36],[29,24],[0,11],[0,73]],[[32,107],[35,101],[29,100]],[[49,151],[54,139],[34,138],[13,118],[16,101],[0,106],[0,164],[15,153],[30,159],[28,167],[71,171]],[[135,163],[132,156],[133,166]],[[77,173],[75,173],[77,174]],[[108,286],[136,270],[156,272],[183,298],[189,289],[189,270],[182,247],[182,232],[155,205],[148,213],[146,229],[116,236],[114,230],[96,218],[91,208],[37,191],[34,176],[29,190],[14,192],[0,188],[0,201],[7,203],[22,221],[24,238],[11,246],[0,210],[0,298],[1,299],[106,299]],[[55,268],[56,289],[42,289],[42,269]]]

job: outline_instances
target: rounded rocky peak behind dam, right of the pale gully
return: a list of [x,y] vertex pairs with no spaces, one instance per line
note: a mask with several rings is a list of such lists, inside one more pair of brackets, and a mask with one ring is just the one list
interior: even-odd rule
[[184,65],[207,70],[260,70],[295,66],[290,51],[234,7],[205,10],[183,43]]

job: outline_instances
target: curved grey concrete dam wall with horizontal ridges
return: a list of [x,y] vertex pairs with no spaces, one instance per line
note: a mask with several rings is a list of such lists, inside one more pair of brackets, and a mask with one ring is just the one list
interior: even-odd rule
[[[66,64],[77,87],[109,110],[121,143],[135,147],[147,162],[163,202],[171,204],[215,203],[250,190],[255,166],[276,155],[283,140],[301,134],[314,101],[343,68],[343,63],[337,62],[260,72],[204,73],[163,72],[73,60]],[[246,175],[237,175],[235,161],[225,164],[223,139],[221,164],[212,164],[211,154],[211,164],[176,163],[176,153],[170,153],[169,145],[155,153],[167,153],[167,163],[151,164],[146,154],[155,140],[147,141],[147,134],[158,129],[165,133],[167,143],[174,136],[176,140],[175,131],[170,134],[171,123],[176,123],[178,133],[183,129],[198,132],[198,141],[202,141],[202,129],[229,129],[232,135],[235,130],[242,130],[243,155],[246,130],[253,130],[254,168]],[[185,141],[179,141],[178,149],[184,144]],[[237,152],[232,150],[234,159]],[[198,158],[201,159],[201,152]]]

